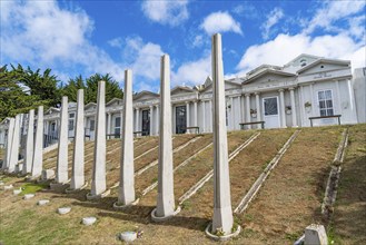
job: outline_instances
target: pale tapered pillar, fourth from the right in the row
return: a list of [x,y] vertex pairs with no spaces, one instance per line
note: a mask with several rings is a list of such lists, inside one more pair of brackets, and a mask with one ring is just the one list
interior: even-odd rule
[[91,192],[87,198],[95,199],[108,195],[105,193],[106,188],[106,82],[99,81]]

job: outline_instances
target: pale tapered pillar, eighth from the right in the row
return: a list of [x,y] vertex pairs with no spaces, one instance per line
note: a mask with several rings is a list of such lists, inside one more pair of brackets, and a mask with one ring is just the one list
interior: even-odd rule
[[27,175],[32,170],[34,150],[34,110],[29,110],[28,115],[28,130],[26,145],[26,161],[23,164],[22,174]]

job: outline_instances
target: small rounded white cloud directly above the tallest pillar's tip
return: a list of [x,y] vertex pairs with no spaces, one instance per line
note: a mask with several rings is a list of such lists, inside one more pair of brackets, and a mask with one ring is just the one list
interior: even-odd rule
[[214,12],[207,16],[200,28],[208,35],[217,32],[233,31],[238,35],[243,35],[240,23],[235,21],[228,12]]

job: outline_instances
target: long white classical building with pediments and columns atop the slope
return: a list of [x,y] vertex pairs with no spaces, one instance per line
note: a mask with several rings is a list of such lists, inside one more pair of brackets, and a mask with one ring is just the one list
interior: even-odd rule
[[[228,79],[226,86],[227,129],[309,127],[366,122],[366,68],[353,76],[350,61],[300,55],[283,67],[263,65],[245,77]],[[171,89],[172,131],[175,134],[212,130],[211,79],[200,86]],[[86,136],[95,137],[96,104],[86,105]],[[121,99],[106,105],[107,135],[119,137]],[[44,135],[58,135],[59,108],[44,112]],[[73,136],[76,104],[69,104],[69,137]],[[330,117],[329,117],[330,116]],[[320,118],[317,118],[320,117]],[[159,95],[141,91],[133,96],[133,130],[158,135]],[[6,137],[6,120],[0,125],[0,144]]]

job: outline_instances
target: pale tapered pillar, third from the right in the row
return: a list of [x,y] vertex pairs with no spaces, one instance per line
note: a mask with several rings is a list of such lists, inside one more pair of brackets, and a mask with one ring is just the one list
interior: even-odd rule
[[[132,109],[132,71],[125,70],[125,109],[122,124],[122,145],[119,175],[118,202],[115,207],[131,205],[135,202],[133,169],[133,109]],[[150,107],[151,111],[152,106]],[[150,112],[151,114],[151,112]],[[150,128],[151,131],[152,128]]]

